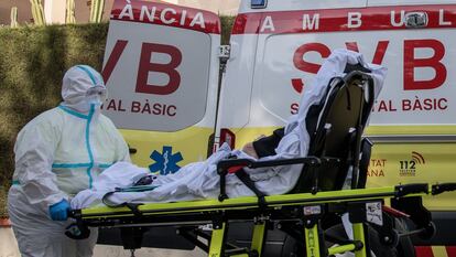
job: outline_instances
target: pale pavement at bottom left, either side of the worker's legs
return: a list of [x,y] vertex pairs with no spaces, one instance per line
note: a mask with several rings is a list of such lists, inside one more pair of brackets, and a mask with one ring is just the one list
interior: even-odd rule
[[[130,257],[131,253],[121,246],[95,246],[94,257]],[[141,248],[134,251],[135,257],[203,257],[207,256],[203,250],[172,250],[156,248]],[[18,242],[9,226],[0,226],[0,257],[20,257]]]

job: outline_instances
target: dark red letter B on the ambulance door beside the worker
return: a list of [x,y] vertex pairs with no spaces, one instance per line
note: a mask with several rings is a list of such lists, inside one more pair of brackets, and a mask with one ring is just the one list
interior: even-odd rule
[[[152,63],[153,53],[170,55],[171,61],[166,64]],[[137,93],[170,95],[177,90],[181,84],[181,75],[176,67],[182,62],[181,51],[173,45],[143,43],[141,60],[138,69]],[[167,85],[151,85],[148,83],[149,72],[164,73],[170,77]]]

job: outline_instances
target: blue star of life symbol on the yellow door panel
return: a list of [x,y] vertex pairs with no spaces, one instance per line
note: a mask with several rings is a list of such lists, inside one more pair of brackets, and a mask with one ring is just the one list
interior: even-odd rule
[[155,163],[149,165],[149,170],[151,172],[160,172],[162,175],[175,173],[178,171],[181,167],[177,165],[177,162],[184,160],[181,152],[173,154],[173,148],[167,146],[163,146],[162,153],[154,150],[150,158],[154,160]]

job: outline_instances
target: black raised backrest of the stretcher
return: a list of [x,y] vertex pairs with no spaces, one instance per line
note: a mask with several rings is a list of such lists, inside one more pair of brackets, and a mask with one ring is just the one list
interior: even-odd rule
[[308,156],[322,158],[323,163],[304,165],[292,193],[340,190],[349,171],[351,188],[357,188],[361,135],[374,90],[369,71],[350,66],[346,72],[329,82],[325,96],[307,113]]

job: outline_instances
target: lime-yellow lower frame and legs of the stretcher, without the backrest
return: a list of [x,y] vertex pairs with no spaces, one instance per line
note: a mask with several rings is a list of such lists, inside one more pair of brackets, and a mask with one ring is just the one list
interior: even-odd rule
[[[444,189],[444,190],[442,190]],[[423,184],[404,184],[397,186],[384,186],[376,189],[358,189],[344,191],[318,192],[316,194],[290,194],[265,196],[267,205],[259,205],[258,197],[228,199],[224,202],[219,200],[204,200],[178,203],[151,203],[141,205],[130,205],[118,208],[107,206],[91,207],[72,211],[72,217],[76,219],[82,232],[87,227],[153,227],[153,226],[180,226],[181,232],[185,227],[194,228],[197,225],[211,224],[213,233],[208,245],[194,242],[196,246],[208,253],[209,257],[217,256],[258,256],[263,249],[264,239],[269,224],[282,219],[295,219],[304,224],[304,235],[307,257],[330,256],[354,251],[356,257],[367,257],[366,204],[382,203],[384,199],[395,199],[406,201],[408,199],[419,199],[427,194],[438,194],[444,191],[455,190],[454,183],[435,184],[430,186]],[[337,205],[348,212],[352,222],[354,240],[347,244],[326,248],[321,228],[322,217],[329,205]],[[419,210],[422,210],[419,206]],[[293,214],[291,214],[293,213]],[[419,217],[424,224],[413,234],[422,234],[430,238],[435,228],[426,215]],[[228,222],[250,221],[254,223],[251,236],[251,247],[229,248],[226,242]],[[412,233],[409,233],[412,234]],[[202,236],[202,234],[199,234]],[[400,235],[397,235],[400,236]],[[395,238],[397,240],[398,238]],[[138,247],[139,248],[139,247]]]

